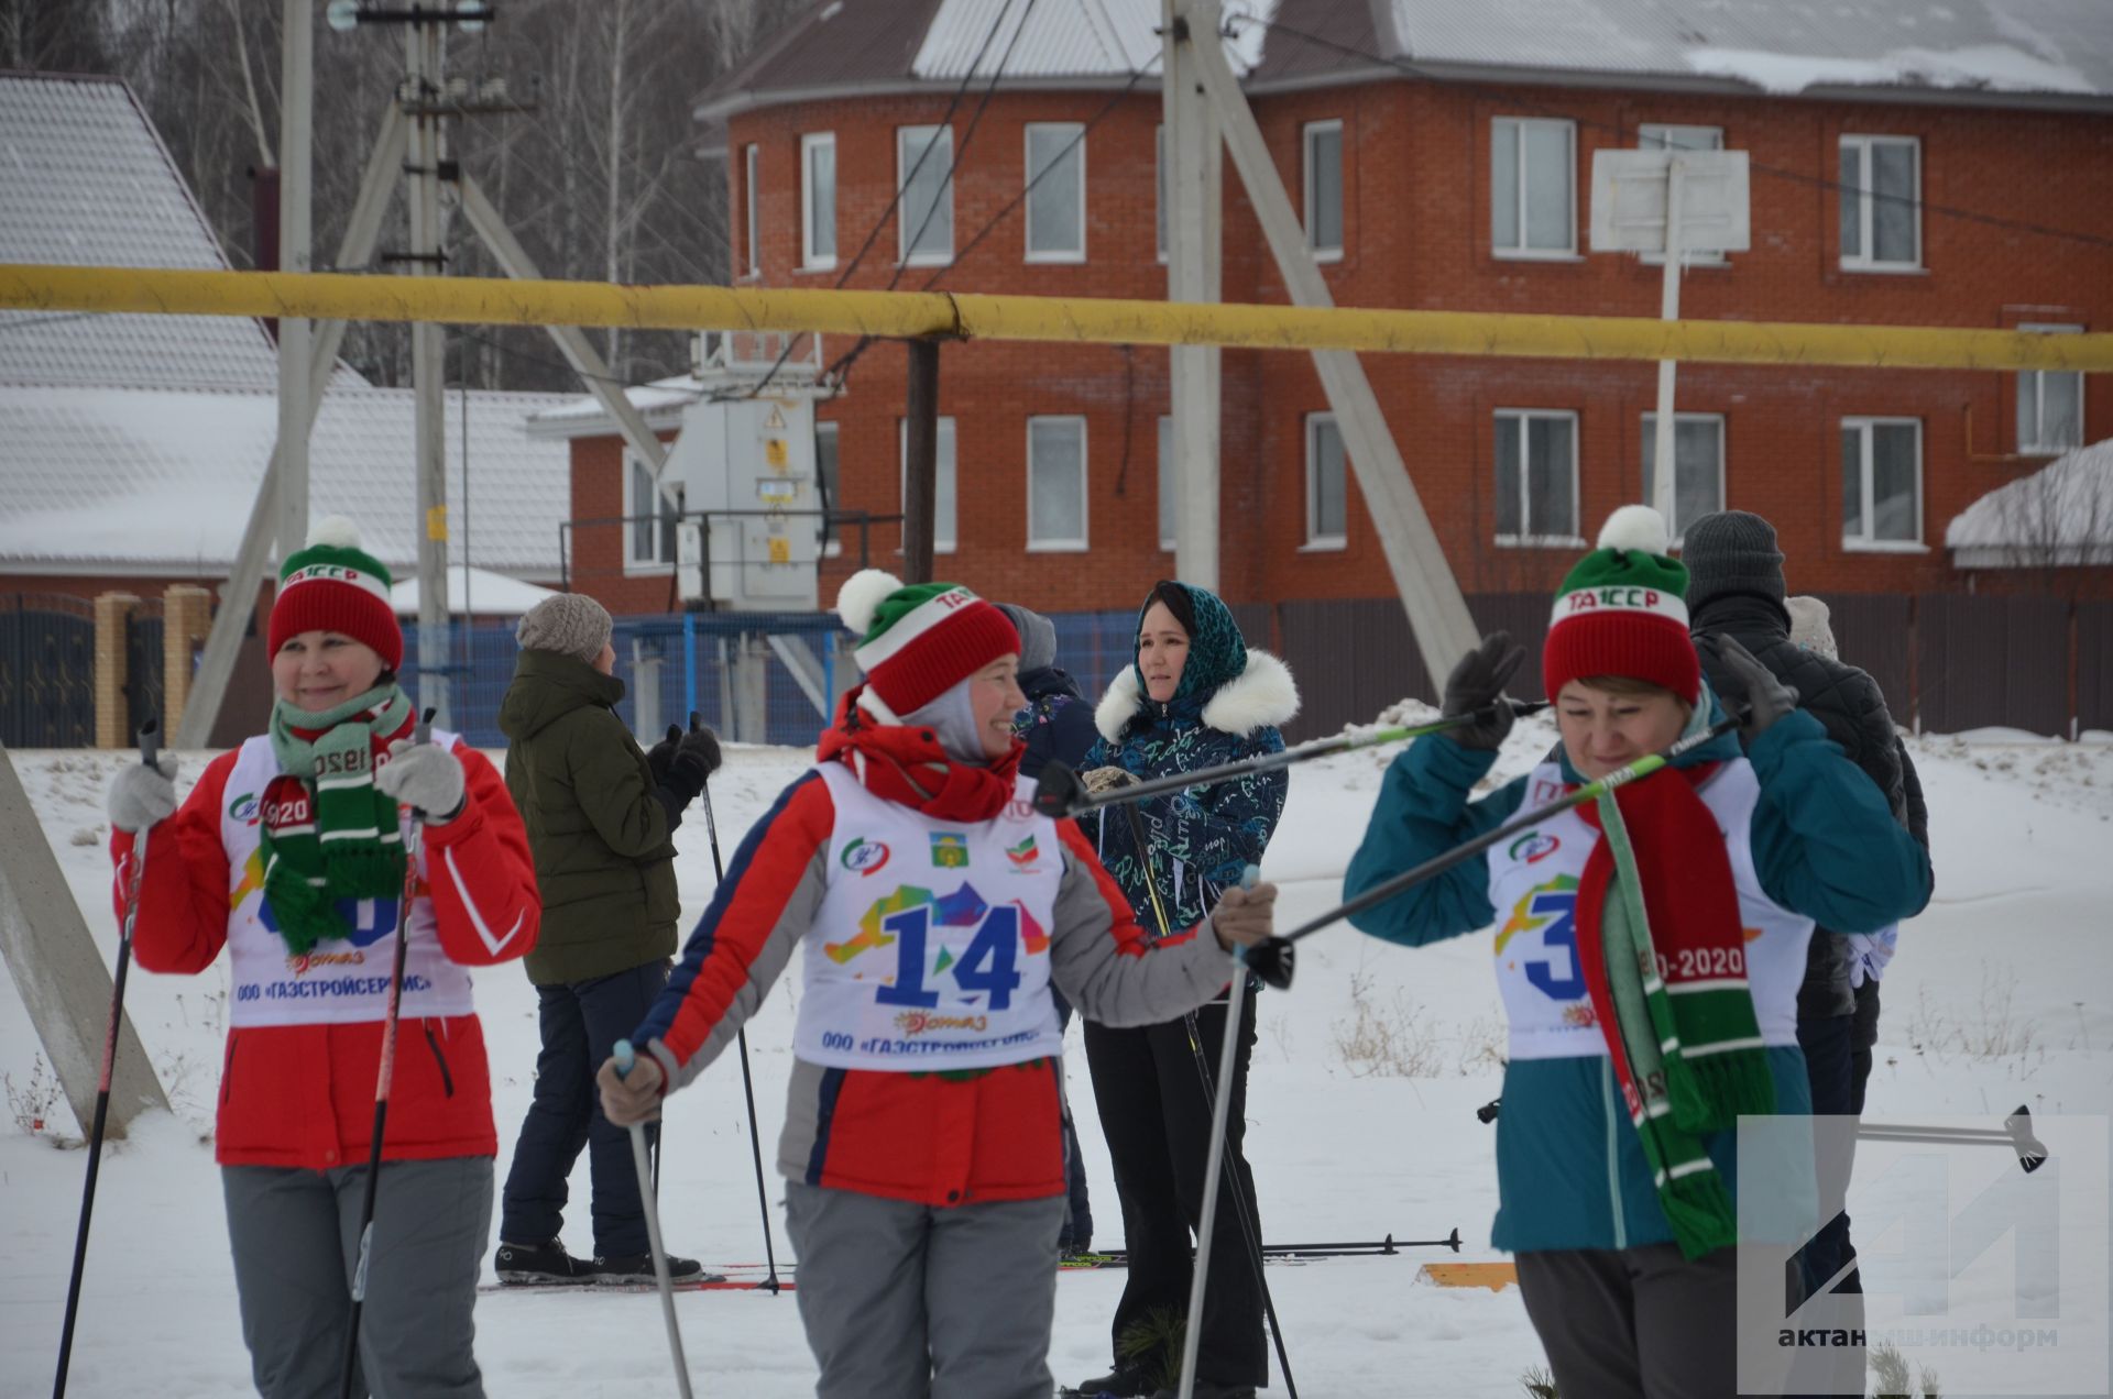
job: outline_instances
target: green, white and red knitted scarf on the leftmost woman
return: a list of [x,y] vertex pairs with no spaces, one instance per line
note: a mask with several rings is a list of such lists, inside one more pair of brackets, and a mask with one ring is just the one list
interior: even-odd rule
[[404,892],[404,833],[395,799],[374,786],[374,750],[410,714],[395,683],[321,712],[285,700],[273,706],[279,776],[264,788],[258,831],[264,898],[294,955],[351,936],[338,900]]

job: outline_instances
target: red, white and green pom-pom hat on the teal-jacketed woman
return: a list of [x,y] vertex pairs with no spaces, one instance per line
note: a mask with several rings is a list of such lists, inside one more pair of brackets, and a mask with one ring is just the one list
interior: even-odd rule
[[1665,518],[1648,505],[1623,505],[1606,518],[1600,547],[1555,592],[1540,647],[1549,700],[1591,676],[1650,680],[1688,704],[1701,697],[1701,661],[1688,640],[1688,571],[1665,549]]

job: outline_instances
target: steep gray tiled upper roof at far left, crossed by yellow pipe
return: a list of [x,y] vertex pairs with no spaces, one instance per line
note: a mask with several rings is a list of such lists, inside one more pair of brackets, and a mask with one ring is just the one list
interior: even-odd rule
[[[0,262],[228,266],[116,78],[0,74]],[[0,385],[270,389],[251,319],[0,311]]]

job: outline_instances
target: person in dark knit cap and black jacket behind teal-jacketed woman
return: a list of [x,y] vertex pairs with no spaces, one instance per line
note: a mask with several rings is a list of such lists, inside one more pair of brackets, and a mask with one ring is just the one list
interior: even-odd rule
[[[1878,683],[1824,651],[1798,647],[1790,636],[1783,552],[1775,543],[1775,526],[1743,509],[1703,516],[1686,530],[1684,560],[1690,577],[1690,632],[1709,683],[1722,685],[1728,678],[1716,642],[1733,638],[1743,645],[1777,680],[1798,691],[1798,708],[1817,719],[1849,761],[1864,769],[1885,795],[1893,820],[1910,828],[1927,854],[1927,826],[1914,831],[1908,820],[1906,750]],[[1925,888],[1914,913],[1927,900]],[[1855,1080],[1855,945],[1828,928],[1817,930],[1807,949],[1805,983],[1798,987],[1798,1048],[1805,1050],[1813,1116],[1853,1116],[1862,1101]],[[1809,1289],[1819,1289],[1855,1257],[1849,1215],[1843,1213],[1855,1137],[1830,1133],[1821,1141],[1830,1143],[1821,1148],[1817,1162],[1819,1215],[1828,1224],[1805,1251]],[[1832,1145],[1834,1141],[1840,1145]],[[1862,1291],[1853,1268],[1834,1291]]]

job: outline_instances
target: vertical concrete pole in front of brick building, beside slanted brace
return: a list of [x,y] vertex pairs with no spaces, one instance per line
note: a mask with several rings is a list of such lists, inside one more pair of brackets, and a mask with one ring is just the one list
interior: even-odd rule
[[[1190,21],[1179,8],[1177,0],[1160,0],[1166,300],[1217,302],[1223,285],[1226,146],[1196,74],[1194,49],[1185,42]],[[1215,344],[1177,344],[1166,357],[1175,429],[1175,577],[1219,592],[1221,351]]]

